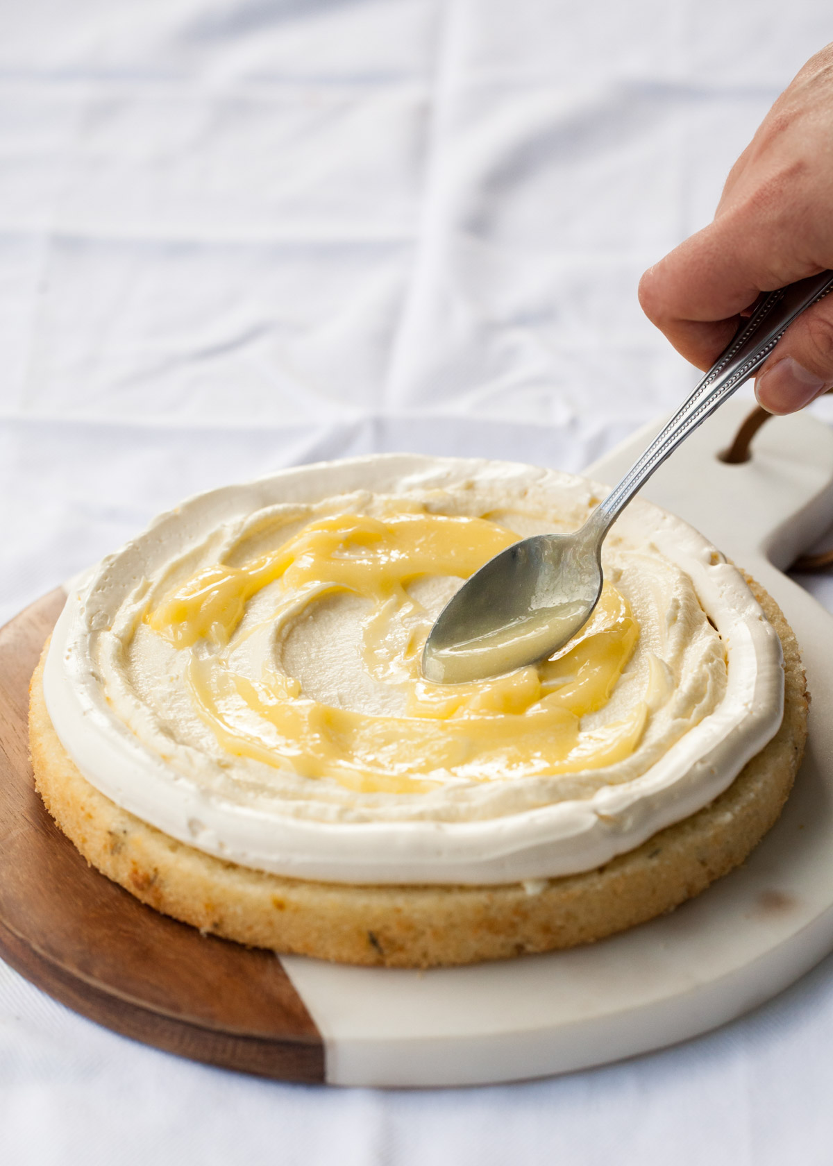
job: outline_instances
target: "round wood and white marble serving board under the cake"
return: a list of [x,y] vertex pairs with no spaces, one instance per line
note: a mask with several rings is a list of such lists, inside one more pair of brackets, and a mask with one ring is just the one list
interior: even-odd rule
[[[33,787],[28,681],[63,604],[0,631],[0,955],[100,1024],[194,1060],[294,1081],[443,1086],[600,1065],[715,1027],[833,948],[833,618],[783,570],[833,520],[833,433],[770,422],[752,459],[719,459],[729,402],[648,497],[698,526],[774,595],[813,703],[805,763],[775,829],[671,915],[572,951],[428,972],[247,950],[158,914],[89,868]],[[616,480],[637,435],[589,473]]]

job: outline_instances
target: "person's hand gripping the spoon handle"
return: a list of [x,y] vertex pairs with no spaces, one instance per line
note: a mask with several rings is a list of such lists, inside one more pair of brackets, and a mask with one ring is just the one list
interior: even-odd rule
[[[639,302],[678,352],[708,368],[758,295],[833,267],[833,44],[812,57],[726,180],[714,222],[651,267]],[[758,402],[792,413],[833,386],[833,295],[792,324],[757,375]]]

